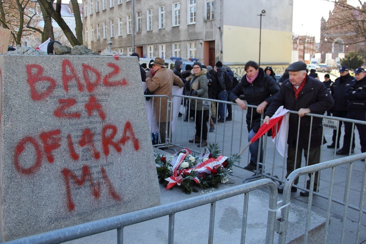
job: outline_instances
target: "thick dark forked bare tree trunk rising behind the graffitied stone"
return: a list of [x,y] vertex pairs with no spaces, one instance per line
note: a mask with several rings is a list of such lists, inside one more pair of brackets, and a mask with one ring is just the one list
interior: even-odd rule
[[65,34],[67,40],[70,42],[72,46],[81,45],[82,44],[82,22],[81,22],[81,14],[79,9],[79,3],[77,0],[71,0],[71,4],[74,10],[74,17],[76,21],[76,37],[74,33],[71,31],[69,26],[61,17],[61,0],[56,1],[56,9],[53,7],[54,0],[38,0],[41,5],[41,8],[45,10],[47,15],[51,16],[62,29]]

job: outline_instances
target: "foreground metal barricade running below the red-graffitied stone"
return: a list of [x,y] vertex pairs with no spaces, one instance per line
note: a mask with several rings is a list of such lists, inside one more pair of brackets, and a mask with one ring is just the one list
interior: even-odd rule
[[[244,194],[244,207],[243,207],[242,234],[240,243],[245,243],[245,235],[246,235],[245,230],[246,230],[246,221],[247,221],[246,218],[248,212],[249,193],[253,190],[260,189],[265,186],[269,187],[270,190],[265,243],[271,244],[273,243],[274,239],[274,225],[275,225],[276,212],[270,210],[276,209],[277,206],[277,187],[275,183],[269,179],[262,179],[256,182],[240,184],[234,187],[207,193],[180,202],[169,203],[165,205],[142,209],[139,211],[126,213],[119,216],[114,216],[111,218],[106,218],[85,224],[74,225],[34,236],[20,238],[6,243],[8,244],[62,243],[71,240],[76,240],[86,236],[99,234],[109,230],[117,229],[117,236],[116,236],[117,243],[122,244],[124,227],[132,224],[153,220],[163,216],[168,216],[168,222],[169,222],[168,243],[173,244],[175,214],[188,209],[210,204],[209,216],[200,216],[200,218],[204,217],[209,218],[209,225],[207,226],[209,228],[208,236],[202,238],[207,238],[208,243],[212,244],[214,241],[216,202],[243,194]],[[205,228],[204,226],[196,226],[196,227],[199,227],[200,229]],[[187,235],[189,235],[189,233]],[[186,239],[180,241],[185,242]],[[239,243],[239,240],[237,243]]]

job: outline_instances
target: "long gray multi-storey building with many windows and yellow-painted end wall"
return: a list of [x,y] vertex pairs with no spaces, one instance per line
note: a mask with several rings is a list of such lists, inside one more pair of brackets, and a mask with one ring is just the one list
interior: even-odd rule
[[291,62],[292,3],[83,0],[84,44],[102,51],[111,39],[112,48],[125,55],[196,58],[211,66],[219,60],[230,66],[258,62],[261,47],[262,65],[284,66]]

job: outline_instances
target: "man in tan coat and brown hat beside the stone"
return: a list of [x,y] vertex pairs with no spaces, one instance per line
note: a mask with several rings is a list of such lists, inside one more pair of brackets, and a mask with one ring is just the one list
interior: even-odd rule
[[[150,91],[154,92],[154,95],[168,96],[169,101],[172,99],[172,87],[173,83],[179,87],[183,87],[184,83],[176,76],[171,69],[167,69],[165,62],[162,58],[155,58],[153,62],[153,70],[155,72],[154,77],[146,74],[146,85]],[[168,101],[164,97],[154,97],[154,112],[159,123],[160,140],[165,143],[166,133],[170,131],[170,114],[167,113],[171,109],[168,109]]]

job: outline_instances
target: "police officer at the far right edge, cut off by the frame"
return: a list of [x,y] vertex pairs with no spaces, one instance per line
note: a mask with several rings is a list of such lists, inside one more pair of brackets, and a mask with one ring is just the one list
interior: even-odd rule
[[[364,68],[355,69],[355,78],[356,81],[353,81],[352,84],[349,86],[345,96],[346,99],[348,100],[347,119],[366,121],[365,69]],[[357,126],[357,130],[360,136],[361,152],[366,152],[366,125],[356,123],[355,126]],[[345,141],[343,142],[343,148],[342,148],[344,152],[349,151],[351,133],[352,133],[352,123],[345,122]]]

